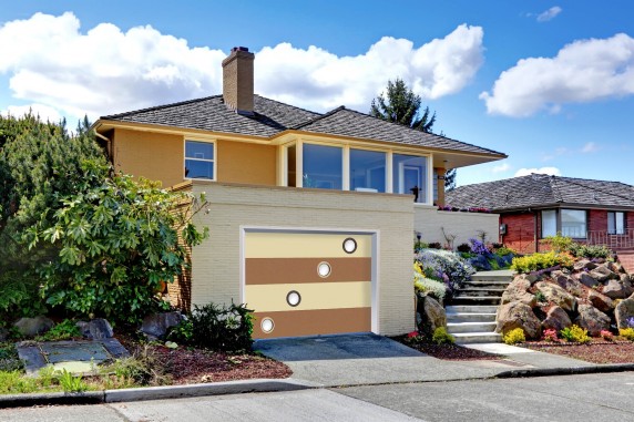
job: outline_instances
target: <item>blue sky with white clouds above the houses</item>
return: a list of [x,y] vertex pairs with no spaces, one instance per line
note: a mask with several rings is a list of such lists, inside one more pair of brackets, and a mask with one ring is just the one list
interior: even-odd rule
[[[634,185],[634,2],[0,0],[0,113],[99,116],[215,95],[249,48],[255,92],[368,112],[400,78],[436,133],[530,173]],[[449,164],[450,165],[450,164]]]

